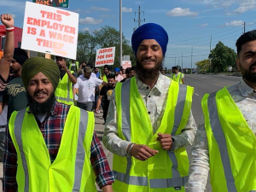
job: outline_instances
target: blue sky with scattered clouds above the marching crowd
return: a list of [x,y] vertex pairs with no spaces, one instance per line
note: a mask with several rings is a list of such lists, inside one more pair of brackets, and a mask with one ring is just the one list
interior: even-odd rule
[[[23,26],[25,0],[0,0],[0,12],[15,16],[15,26]],[[243,32],[256,28],[256,0],[123,0],[123,32],[131,41],[133,28],[138,23],[138,6],[141,19],[160,24],[169,35],[165,66],[176,64],[183,67],[207,59],[210,51],[222,41],[236,50],[236,39]],[[70,11],[79,13],[79,31],[113,26],[119,30],[119,0],[70,0]],[[143,25],[144,22],[141,24]],[[182,59],[183,53],[183,59]]]

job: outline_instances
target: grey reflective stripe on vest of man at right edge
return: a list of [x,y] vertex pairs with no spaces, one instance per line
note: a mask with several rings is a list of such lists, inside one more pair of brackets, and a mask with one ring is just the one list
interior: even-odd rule
[[208,111],[210,117],[210,124],[212,127],[213,135],[218,143],[219,152],[221,154],[221,160],[224,166],[224,174],[227,180],[227,187],[230,192],[236,192],[235,179],[233,177],[230,157],[228,153],[226,139],[224,137],[224,132],[221,128],[220,121],[218,119],[218,109],[216,104],[216,92],[210,94],[208,97]]

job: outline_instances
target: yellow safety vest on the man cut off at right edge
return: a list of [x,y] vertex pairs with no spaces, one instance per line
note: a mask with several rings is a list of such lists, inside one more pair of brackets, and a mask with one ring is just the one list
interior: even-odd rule
[[226,88],[202,99],[213,192],[256,190],[256,138]]

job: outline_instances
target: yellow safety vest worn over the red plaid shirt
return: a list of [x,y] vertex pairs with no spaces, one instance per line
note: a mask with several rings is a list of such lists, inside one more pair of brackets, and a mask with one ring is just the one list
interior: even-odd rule
[[9,132],[18,155],[19,192],[96,192],[90,164],[94,114],[72,106],[53,163],[38,123],[29,108],[12,113]]

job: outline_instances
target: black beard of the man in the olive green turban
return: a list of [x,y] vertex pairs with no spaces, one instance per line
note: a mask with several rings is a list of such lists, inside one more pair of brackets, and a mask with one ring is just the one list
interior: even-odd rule
[[55,104],[55,94],[53,93],[48,100],[43,103],[36,102],[31,96],[27,94],[27,100],[29,104],[30,111],[35,115],[47,115],[49,116],[53,105]]

